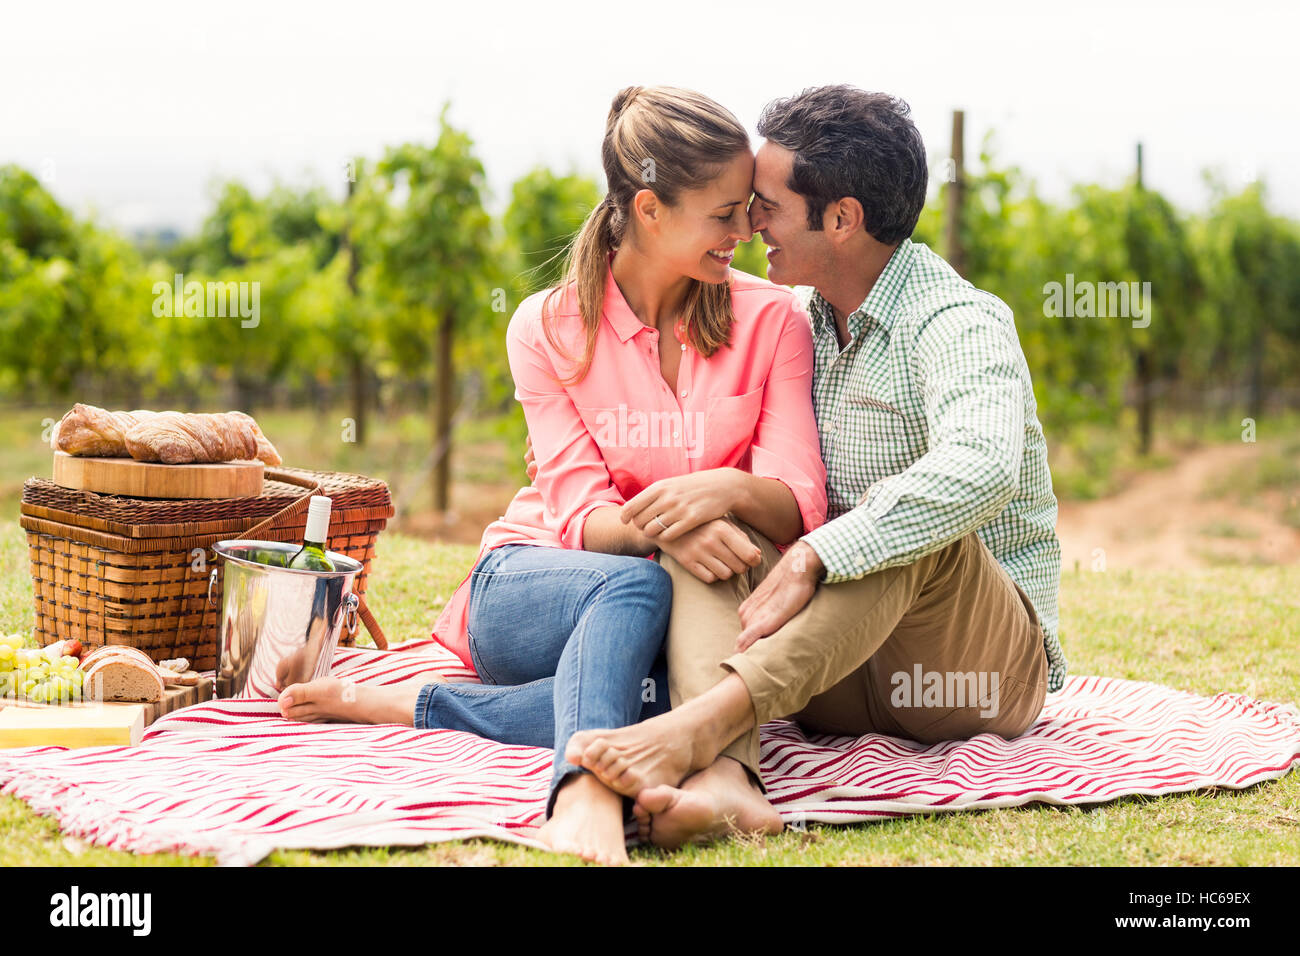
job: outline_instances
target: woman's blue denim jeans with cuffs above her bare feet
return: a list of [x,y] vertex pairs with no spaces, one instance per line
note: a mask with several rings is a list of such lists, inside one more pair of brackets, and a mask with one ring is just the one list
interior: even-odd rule
[[[646,558],[536,545],[488,551],[469,581],[469,654],[482,684],[426,684],[417,728],[554,747],[546,817],[580,730],[668,710],[668,572]],[[649,680],[647,680],[649,678]]]

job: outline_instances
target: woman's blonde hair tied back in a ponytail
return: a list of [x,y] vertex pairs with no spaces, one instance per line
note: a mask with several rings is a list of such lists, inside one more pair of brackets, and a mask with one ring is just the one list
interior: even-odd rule
[[[749,135],[729,111],[692,90],[629,86],[620,90],[604,122],[601,163],[608,191],[592,211],[569,247],[566,280],[542,303],[542,328],[551,347],[568,355],[552,332],[551,299],[576,286],[586,345],[577,372],[564,385],[581,381],[592,367],[604,304],[608,255],[623,242],[632,199],[649,189],[673,206],[682,190],[699,189],[742,151]],[[708,358],[731,343],[732,304],[728,282],[692,280],[684,303],[686,342]],[[568,356],[577,360],[577,356]]]

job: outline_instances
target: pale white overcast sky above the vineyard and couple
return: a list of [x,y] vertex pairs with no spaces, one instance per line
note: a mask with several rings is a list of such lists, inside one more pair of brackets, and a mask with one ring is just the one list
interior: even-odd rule
[[599,179],[623,86],[693,87],[753,129],[768,99],[849,82],[911,103],[932,163],[963,108],[967,156],[992,127],[1053,198],[1118,185],[1140,139],[1182,208],[1216,166],[1300,219],[1297,26],[1247,0],[0,0],[0,163],[107,222],[192,229],[222,177],[341,194],[348,156],[432,139],[450,99],[499,207],[537,163]]

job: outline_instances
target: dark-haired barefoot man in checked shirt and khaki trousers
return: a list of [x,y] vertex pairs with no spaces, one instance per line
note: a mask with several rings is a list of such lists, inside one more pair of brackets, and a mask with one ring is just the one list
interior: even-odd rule
[[[1057,502],[1010,310],[910,235],[927,164],[905,103],[849,86],[764,109],[750,219],[811,286],[827,523],[706,584],[664,557],[672,710],[573,736],[673,847],[777,832],[758,728],[1013,737],[1060,689]],[[642,531],[655,533],[653,522]]]

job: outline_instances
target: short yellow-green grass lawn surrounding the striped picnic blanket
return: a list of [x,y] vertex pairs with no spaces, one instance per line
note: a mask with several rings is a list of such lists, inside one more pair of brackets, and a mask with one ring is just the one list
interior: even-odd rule
[[[391,640],[425,636],[473,559],[473,548],[385,533],[369,604]],[[31,583],[16,520],[0,522],[0,630],[30,628]],[[1075,674],[1154,680],[1197,693],[1300,700],[1300,567],[1205,572],[1066,572],[1062,641]],[[1300,774],[1244,792],[1134,797],[1092,809],[1031,806],[911,817],[855,827],[810,826],[766,843],[662,853],[644,865],[1270,865],[1300,860]],[[65,840],[51,819],[0,797],[0,866],[194,865]],[[277,852],[263,865],[568,865],[567,857],[491,842],[421,848]]]

